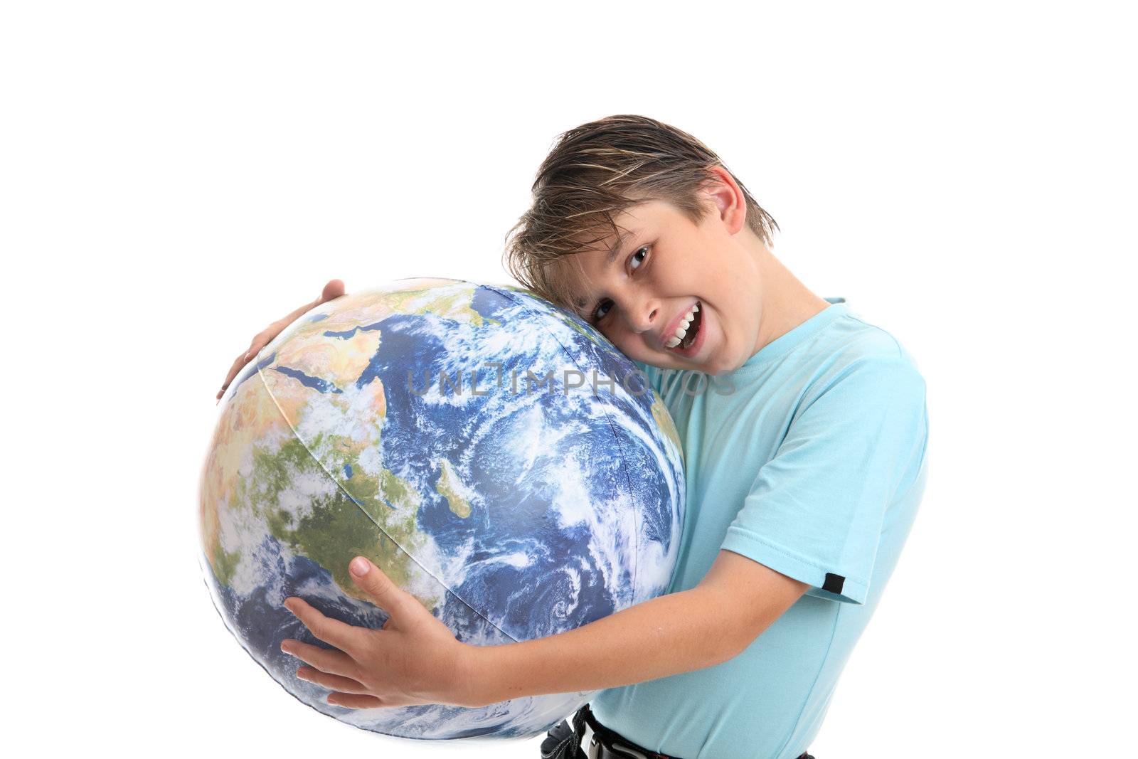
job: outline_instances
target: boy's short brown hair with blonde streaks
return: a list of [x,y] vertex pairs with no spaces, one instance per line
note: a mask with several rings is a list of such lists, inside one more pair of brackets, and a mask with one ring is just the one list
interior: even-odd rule
[[[711,211],[699,190],[718,180],[712,166],[726,171],[694,137],[648,116],[608,116],[563,132],[537,170],[533,207],[506,233],[503,264],[534,294],[575,311],[580,270],[563,265],[570,256],[619,234],[613,217],[650,200],[667,201],[699,224]],[[748,226],[773,247],[778,224],[732,178],[747,200]]]

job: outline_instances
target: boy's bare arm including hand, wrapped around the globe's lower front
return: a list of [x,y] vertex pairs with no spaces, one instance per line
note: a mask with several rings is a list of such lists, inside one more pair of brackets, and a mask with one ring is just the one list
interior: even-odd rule
[[543,693],[594,691],[711,667],[745,649],[810,586],[720,551],[694,588],[536,641],[459,642],[413,595],[365,556],[348,572],[388,613],[380,629],[325,617],[303,599],[284,607],[322,647],[294,638],[281,650],[307,666],[297,677],[332,691],[349,709],[452,703],[481,707]]

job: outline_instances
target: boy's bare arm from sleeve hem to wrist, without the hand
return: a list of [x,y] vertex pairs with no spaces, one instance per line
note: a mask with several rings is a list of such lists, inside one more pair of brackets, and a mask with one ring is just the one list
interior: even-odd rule
[[721,663],[754,641],[809,588],[720,551],[694,588],[629,607],[567,633],[468,646],[465,706],[594,691]]

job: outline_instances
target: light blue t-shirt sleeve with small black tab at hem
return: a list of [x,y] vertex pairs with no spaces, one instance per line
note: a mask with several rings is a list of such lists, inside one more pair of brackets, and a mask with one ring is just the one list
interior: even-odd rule
[[925,382],[905,357],[864,358],[803,397],[721,547],[865,603],[885,511],[924,456]]

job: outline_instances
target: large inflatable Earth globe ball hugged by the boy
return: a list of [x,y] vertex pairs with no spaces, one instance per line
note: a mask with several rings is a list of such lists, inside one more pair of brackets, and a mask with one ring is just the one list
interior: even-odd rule
[[659,396],[575,314],[509,286],[398,280],[310,311],[232,382],[199,488],[201,568],[246,651],[345,723],[414,739],[534,736],[593,695],[346,709],[284,638],[282,602],[381,627],[357,554],[457,640],[566,632],[661,594],[679,550],[679,440]]

